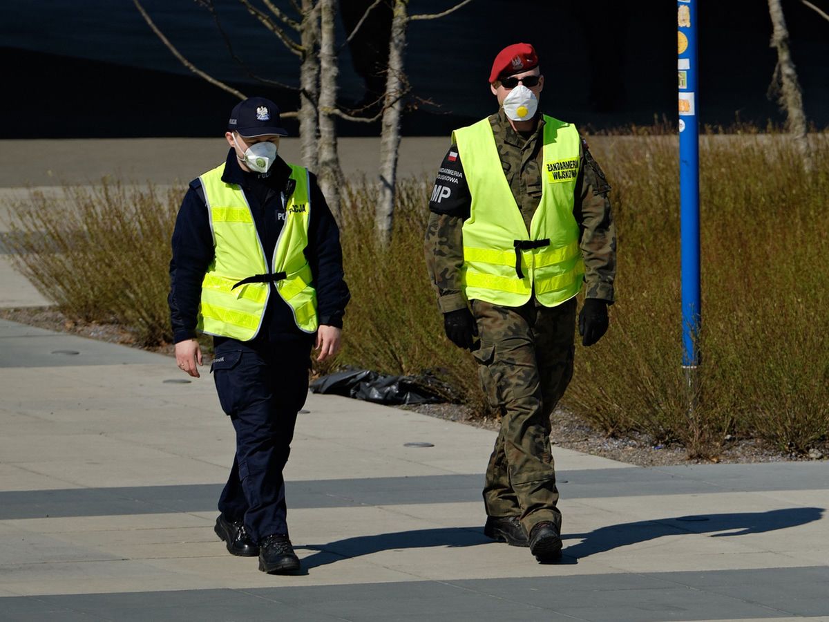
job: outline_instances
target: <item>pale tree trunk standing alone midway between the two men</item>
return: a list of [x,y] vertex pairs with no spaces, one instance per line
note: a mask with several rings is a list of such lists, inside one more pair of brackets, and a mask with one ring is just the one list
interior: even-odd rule
[[400,148],[400,116],[403,112],[403,58],[406,46],[409,0],[395,0],[389,39],[389,66],[385,74],[385,100],[380,136],[380,178],[375,212],[377,235],[391,241],[395,219],[397,150]]

